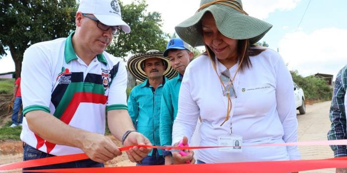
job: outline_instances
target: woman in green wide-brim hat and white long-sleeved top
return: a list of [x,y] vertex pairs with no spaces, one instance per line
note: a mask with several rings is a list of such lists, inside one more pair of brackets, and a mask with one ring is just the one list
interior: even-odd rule
[[[200,115],[200,146],[234,146],[199,150],[198,163],[300,159],[297,146],[242,147],[297,141],[289,70],[277,52],[254,45],[271,27],[248,16],[241,0],[201,0],[198,12],[175,27],[206,52],[185,71],[173,143],[189,140]],[[185,163],[192,154],[173,157]]]

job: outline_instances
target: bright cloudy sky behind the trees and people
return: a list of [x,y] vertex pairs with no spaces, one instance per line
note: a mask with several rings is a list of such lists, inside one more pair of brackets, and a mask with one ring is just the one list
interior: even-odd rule
[[[124,4],[132,0],[121,0]],[[146,0],[147,12],[162,14],[164,32],[192,16],[200,0]],[[347,65],[347,0],[242,0],[250,15],[273,25],[260,42],[278,51],[289,70],[301,76],[334,75]],[[301,22],[300,22],[301,21]],[[131,33],[130,33],[131,34]],[[0,73],[14,71],[10,56],[0,60]]]

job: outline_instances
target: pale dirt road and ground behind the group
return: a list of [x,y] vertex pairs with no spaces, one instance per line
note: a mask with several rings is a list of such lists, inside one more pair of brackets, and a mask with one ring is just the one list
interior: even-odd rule
[[[329,121],[330,101],[307,105],[305,115],[297,115],[298,119],[298,140],[299,141],[317,141],[326,140],[327,132],[330,129]],[[21,152],[7,152],[1,150],[6,148],[21,147],[20,142],[0,142],[0,164],[18,162],[22,160]],[[329,146],[303,146],[299,147],[302,159],[324,159],[332,158],[333,152]],[[129,162],[124,153],[122,157],[116,158],[106,164],[107,166],[134,166]],[[335,169],[315,170],[301,173],[335,173]]]

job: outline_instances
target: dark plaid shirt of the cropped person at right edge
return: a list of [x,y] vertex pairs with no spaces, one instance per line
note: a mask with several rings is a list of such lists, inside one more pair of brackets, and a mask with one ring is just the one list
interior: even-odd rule
[[[345,96],[347,90],[347,66],[340,70],[336,77],[333,99],[330,107],[331,130],[328,132],[329,140],[347,139],[346,108],[347,100]],[[347,99],[347,98],[346,98]],[[346,145],[332,145],[334,157],[347,156]]]

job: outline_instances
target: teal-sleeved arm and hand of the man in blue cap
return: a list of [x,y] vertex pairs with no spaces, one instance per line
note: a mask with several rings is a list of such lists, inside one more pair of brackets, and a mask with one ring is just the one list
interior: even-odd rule
[[[159,136],[160,145],[171,145],[173,132],[173,102],[169,85],[163,87],[162,103],[160,107]],[[165,165],[172,165],[172,153],[163,149]]]

